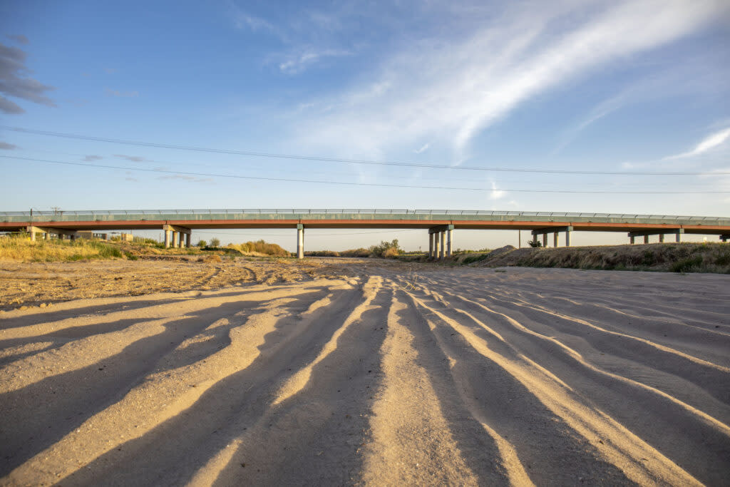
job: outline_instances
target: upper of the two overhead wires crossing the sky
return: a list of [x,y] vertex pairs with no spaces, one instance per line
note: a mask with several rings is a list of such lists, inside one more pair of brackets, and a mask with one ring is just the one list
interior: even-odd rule
[[478,166],[445,166],[442,164],[419,164],[410,162],[394,162],[394,161],[369,161],[367,159],[345,159],[334,157],[318,157],[318,156],[297,156],[294,154],[275,154],[264,152],[253,152],[250,150],[227,150],[215,149],[210,147],[194,147],[191,145],[173,145],[161,144],[157,142],[139,142],[136,140],[112,139],[110,137],[91,137],[88,135],[65,134],[64,132],[53,132],[34,129],[23,129],[21,127],[12,127],[0,125],[0,129],[20,132],[23,134],[45,135],[49,137],[61,137],[64,139],[80,139],[90,140],[93,142],[111,142],[114,144],[136,145],[138,147],[159,147],[161,149],[191,150],[194,152],[216,153],[216,154],[232,154],[234,156],[255,156],[269,157],[280,159],[298,159],[301,161],[323,161],[323,162],[342,162],[348,164],[371,164],[374,166],[400,166],[400,167],[419,167],[426,169],[459,169],[462,171],[499,171],[499,172],[529,172],[536,174],[558,174],[558,175],[616,175],[616,176],[707,176],[707,175],[730,175],[730,172],[649,172],[649,171],[571,171],[568,169],[520,169],[512,167],[478,167]]

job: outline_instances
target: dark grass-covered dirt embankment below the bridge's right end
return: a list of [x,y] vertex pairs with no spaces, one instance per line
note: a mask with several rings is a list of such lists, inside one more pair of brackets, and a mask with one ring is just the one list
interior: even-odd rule
[[592,247],[522,248],[456,256],[475,266],[566,267],[570,269],[716,272],[730,274],[730,245],[680,243]]

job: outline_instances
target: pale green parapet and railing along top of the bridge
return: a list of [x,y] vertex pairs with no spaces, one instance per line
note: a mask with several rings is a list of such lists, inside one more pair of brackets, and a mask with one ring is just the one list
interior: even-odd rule
[[[495,221],[593,221],[633,223],[675,223],[728,225],[730,218],[709,216],[642,215],[631,213],[514,212],[491,210],[407,210],[407,209],[210,209],[210,210],[71,210],[0,212],[6,223],[32,221],[131,221],[131,220],[257,220],[257,219],[414,219]],[[334,218],[338,217],[338,218]]]

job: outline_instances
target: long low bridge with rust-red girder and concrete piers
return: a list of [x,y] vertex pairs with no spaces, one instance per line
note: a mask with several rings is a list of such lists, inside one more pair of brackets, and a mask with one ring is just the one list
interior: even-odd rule
[[[36,234],[77,237],[88,230],[158,230],[165,232],[165,247],[191,246],[195,229],[296,229],[296,252],[304,256],[304,229],[425,229],[429,233],[429,256],[445,258],[453,252],[457,229],[530,230],[558,246],[564,232],[570,245],[572,231],[627,232],[630,242],[650,235],[719,235],[730,239],[730,218],[613,213],[509,212],[487,210],[85,210],[0,212],[0,231],[28,231]],[[183,244],[183,236],[185,243]]]

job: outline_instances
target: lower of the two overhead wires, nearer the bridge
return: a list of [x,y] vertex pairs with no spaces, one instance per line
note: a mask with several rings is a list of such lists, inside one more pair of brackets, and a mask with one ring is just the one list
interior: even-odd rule
[[347,186],[377,186],[379,188],[414,188],[414,189],[447,189],[458,191],[510,191],[512,193],[580,193],[580,194],[709,194],[709,193],[730,193],[730,191],[578,191],[578,190],[550,190],[550,189],[507,189],[507,188],[457,188],[454,186],[418,186],[404,184],[385,184],[385,183],[350,183],[347,181],[323,181],[323,180],[304,180],[291,179],[286,177],[257,177],[242,175],[225,175],[215,172],[184,172],[184,171],[168,171],[165,169],[144,169],[140,167],[127,166],[111,166],[107,164],[88,164],[83,162],[68,161],[50,161],[48,159],[35,159],[20,156],[0,156],[0,158],[16,159],[20,161],[34,161],[48,164],[64,164],[67,166],[83,166],[83,167],[99,167],[105,169],[123,169],[124,171],[142,171],[157,172],[169,175],[185,175],[185,176],[205,176],[205,177],[231,177],[235,179],[258,180],[258,181],[280,181],[283,183],[317,183],[317,184],[334,184]]

